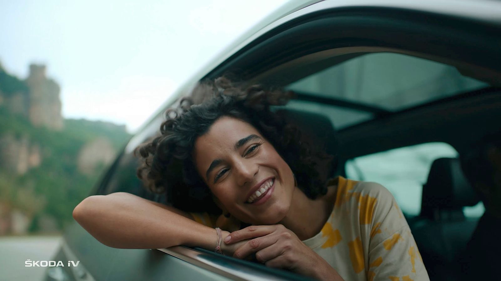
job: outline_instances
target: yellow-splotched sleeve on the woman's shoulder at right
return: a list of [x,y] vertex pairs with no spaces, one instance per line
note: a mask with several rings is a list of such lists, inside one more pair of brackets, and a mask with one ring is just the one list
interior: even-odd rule
[[369,240],[370,281],[429,281],[414,236],[393,195],[382,185],[377,190]]

